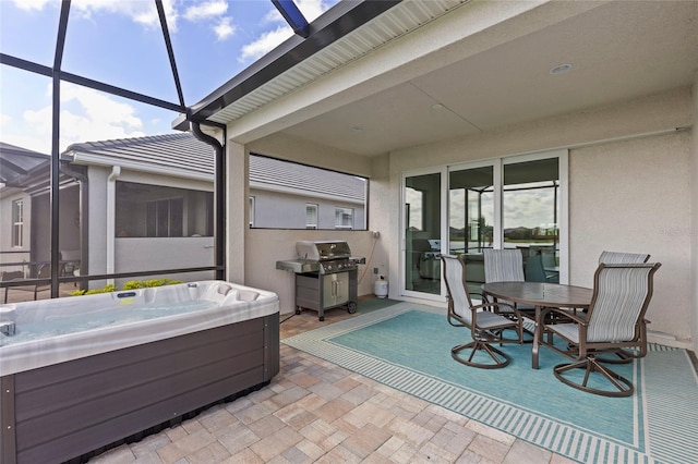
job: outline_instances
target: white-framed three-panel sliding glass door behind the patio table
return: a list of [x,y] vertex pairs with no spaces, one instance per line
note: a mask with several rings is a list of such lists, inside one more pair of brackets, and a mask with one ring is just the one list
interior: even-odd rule
[[566,150],[404,179],[405,295],[441,295],[440,253],[462,256],[477,293],[484,248],[520,249],[528,280],[567,282]]

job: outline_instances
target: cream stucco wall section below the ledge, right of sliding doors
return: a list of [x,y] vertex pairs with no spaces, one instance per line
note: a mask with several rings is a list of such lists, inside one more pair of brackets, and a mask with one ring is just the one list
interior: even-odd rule
[[571,282],[592,286],[602,251],[651,254],[649,329],[690,339],[690,133],[570,151]]

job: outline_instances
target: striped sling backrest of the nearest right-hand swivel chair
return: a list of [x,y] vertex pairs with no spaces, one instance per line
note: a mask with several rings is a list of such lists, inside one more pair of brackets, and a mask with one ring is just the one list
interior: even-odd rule
[[659,262],[599,265],[587,316],[587,342],[629,342],[639,338],[638,323],[643,323],[652,297],[653,276],[660,266]]

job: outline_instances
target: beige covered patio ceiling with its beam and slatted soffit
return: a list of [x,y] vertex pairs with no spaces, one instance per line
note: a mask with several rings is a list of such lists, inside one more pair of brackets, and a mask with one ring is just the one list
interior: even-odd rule
[[263,59],[287,53],[286,71],[256,81],[260,62],[192,114],[240,144],[374,156],[684,89],[696,20],[697,2],[404,0],[313,54],[294,57],[293,37]]

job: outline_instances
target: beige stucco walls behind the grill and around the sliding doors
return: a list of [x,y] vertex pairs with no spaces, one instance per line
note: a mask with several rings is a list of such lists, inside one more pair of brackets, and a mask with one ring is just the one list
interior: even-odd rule
[[[394,151],[371,158],[368,174],[365,159],[358,158],[354,171],[371,179],[369,231],[248,230],[242,259],[245,283],[277,292],[281,310],[290,312],[293,276],[277,271],[276,260],[292,258],[298,240],[338,237],[348,240],[357,255],[368,257],[373,251],[373,262],[359,294],[373,293],[372,270],[380,267],[390,282],[389,296],[400,297],[397,282],[402,172],[566,148],[570,154],[570,283],[591,285],[595,261],[603,249],[650,253],[652,259],[662,262],[649,313],[650,328],[688,344],[696,312],[690,280],[691,135],[690,131],[673,131],[693,124],[693,105],[691,89],[679,88]],[[264,142],[258,141],[255,147],[264,147]],[[288,159],[302,158],[303,162],[330,169],[347,168],[347,159],[323,156],[323,147],[308,142],[279,136],[270,141],[269,147],[273,149],[261,152],[286,154]],[[372,230],[381,232],[375,249]]]

